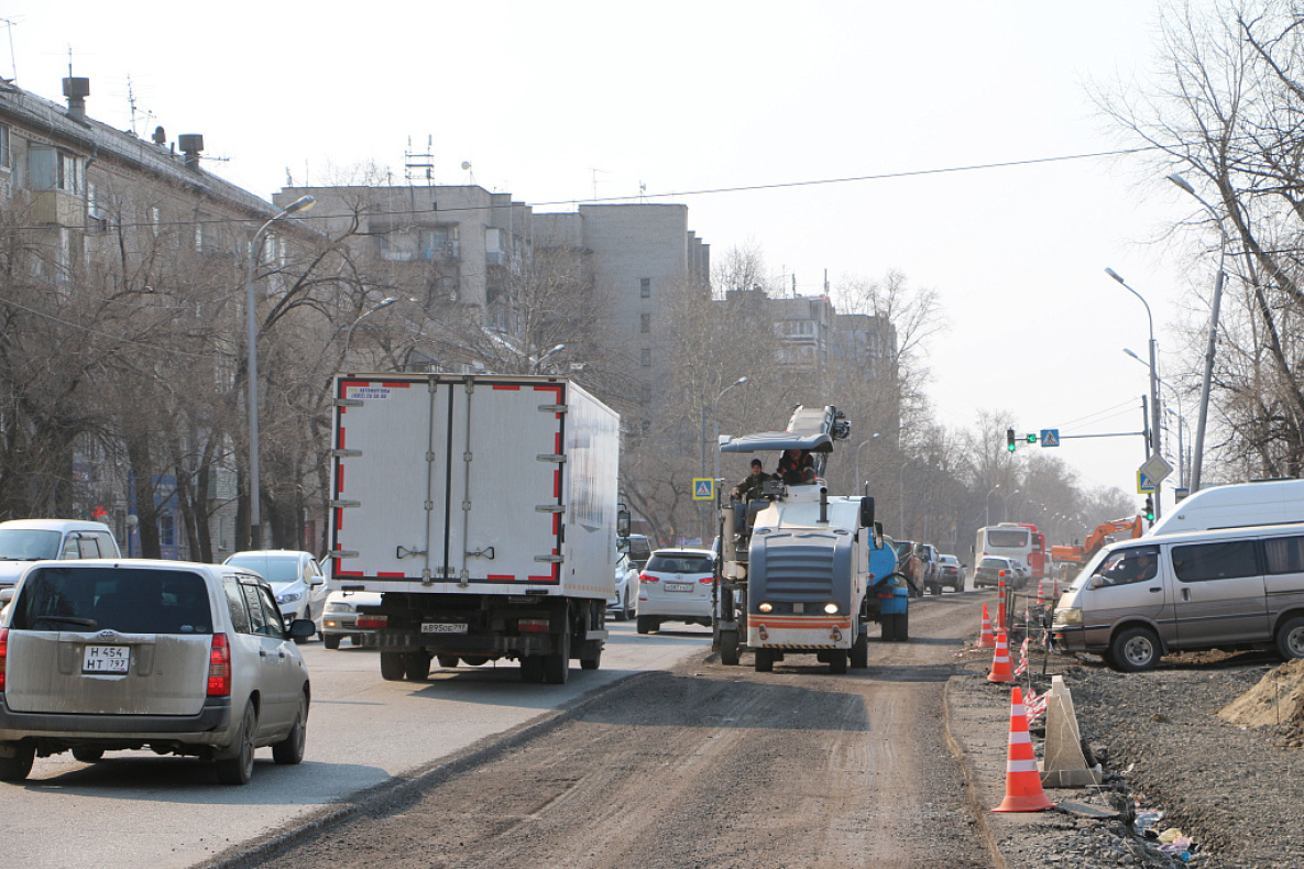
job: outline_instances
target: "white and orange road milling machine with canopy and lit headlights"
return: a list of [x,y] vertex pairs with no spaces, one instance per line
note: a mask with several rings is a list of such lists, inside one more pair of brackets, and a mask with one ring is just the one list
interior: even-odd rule
[[888,547],[874,499],[829,495],[823,478],[850,429],[837,408],[798,406],[784,431],[721,443],[721,452],[799,449],[814,466],[812,478],[767,481],[759,496],[721,509],[713,628],[725,664],[750,650],[756,671],[767,672],[785,655],[814,654],[844,674],[868,664],[868,623],[879,621],[887,640],[906,638],[905,577],[872,569]]

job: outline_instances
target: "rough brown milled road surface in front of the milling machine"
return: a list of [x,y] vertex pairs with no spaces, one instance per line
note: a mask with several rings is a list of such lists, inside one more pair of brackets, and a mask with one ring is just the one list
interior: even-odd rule
[[943,737],[943,685],[978,599],[911,605],[909,644],[831,676],[715,658],[636,677],[542,735],[265,865],[990,865]]

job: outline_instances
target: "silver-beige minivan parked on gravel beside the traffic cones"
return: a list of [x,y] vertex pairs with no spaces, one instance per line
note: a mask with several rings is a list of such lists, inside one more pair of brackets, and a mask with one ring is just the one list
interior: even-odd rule
[[1112,543],[1055,606],[1051,642],[1123,671],[1179,650],[1275,645],[1304,658],[1304,524]]

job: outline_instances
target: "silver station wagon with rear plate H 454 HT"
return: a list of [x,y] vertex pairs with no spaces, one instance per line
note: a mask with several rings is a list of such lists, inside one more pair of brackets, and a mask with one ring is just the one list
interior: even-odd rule
[[[159,560],[37,562],[0,628],[0,780],[35,756],[149,748],[245,784],[254,750],[304,756],[310,698],[296,637],[256,573]],[[4,593],[5,597],[9,591]]]

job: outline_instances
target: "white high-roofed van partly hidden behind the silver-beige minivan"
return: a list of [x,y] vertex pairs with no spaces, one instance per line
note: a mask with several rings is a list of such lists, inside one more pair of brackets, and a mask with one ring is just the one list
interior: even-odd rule
[[1178,502],[1146,535],[1304,522],[1304,479],[1266,479],[1201,489]]

